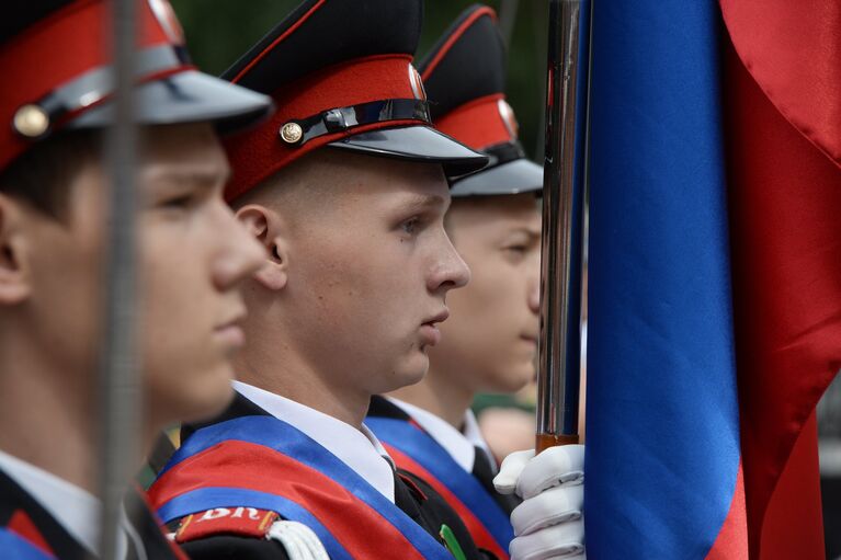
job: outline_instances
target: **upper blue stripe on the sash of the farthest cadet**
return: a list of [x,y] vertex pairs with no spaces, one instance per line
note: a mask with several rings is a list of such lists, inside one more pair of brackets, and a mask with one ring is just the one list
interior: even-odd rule
[[397,447],[427,469],[485,525],[502,550],[514,538],[508,514],[481,483],[458,465],[435,439],[399,419],[368,416],[365,425],[383,442]]

